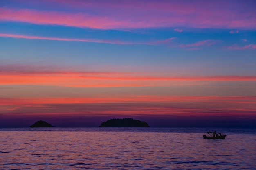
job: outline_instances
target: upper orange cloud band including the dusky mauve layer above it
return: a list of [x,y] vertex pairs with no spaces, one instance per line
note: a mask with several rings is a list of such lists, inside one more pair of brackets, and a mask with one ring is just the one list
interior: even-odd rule
[[[115,66],[113,66],[115,67]],[[116,66],[118,67],[118,66]],[[102,68],[101,68],[102,70]],[[209,81],[256,81],[256,76],[173,76],[161,70],[90,71],[83,68],[40,65],[0,65],[0,85],[40,85],[62,87],[156,87],[194,85]]]

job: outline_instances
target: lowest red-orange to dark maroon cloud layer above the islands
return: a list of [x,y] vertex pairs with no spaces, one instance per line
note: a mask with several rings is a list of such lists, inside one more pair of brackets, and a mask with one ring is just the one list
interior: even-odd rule
[[225,118],[228,121],[234,118],[239,121],[241,118],[247,118],[247,120],[249,118],[255,122],[256,110],[255,107],[252,107],[255,103],[255,96],[123,95],[121,97],[98,96],[93,98],[0,98],[1,108],[3,108],[2,123],[6,122],[8,116],[11,116],[11,122],[13,122],[13,118],[17,118],[20,122],[24,117],[27,120],[29,117],[39,116],[56,120],[67,118],[66,123],[63,123],[65,126],[70,119],[76,117],[78,118],[76,121],[73,120],[73,126],[76,126],[79,120],[87,120],[86,116],[94,116],[94,120],[98,120],[100,116],[113,118],[127,115],[129,117],[153,117],[152,122],[159,117],[163,120],[169,117],[168,124],[176,116],[183,120],[187,119],[188,122],[193,117],[192,120],[195,121],[202,121],[202,118],[210,120]]

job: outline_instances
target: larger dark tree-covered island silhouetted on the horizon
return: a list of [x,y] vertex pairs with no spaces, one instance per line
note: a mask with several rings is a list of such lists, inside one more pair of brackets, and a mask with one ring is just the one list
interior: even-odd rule
[[110,119],[102,122],[99,127],[149,127],[147,122],[135,120],[132,118]]

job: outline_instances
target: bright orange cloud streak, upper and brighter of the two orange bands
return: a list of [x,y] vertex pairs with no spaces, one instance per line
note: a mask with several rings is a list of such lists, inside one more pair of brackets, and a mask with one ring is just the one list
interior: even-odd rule
[[2,74],[0,85],[59,85],[71,87],[129,87],[129,86],[161,86],[171,85],[178,81],[256,81],[256,76],[191,76],[162,77],[137,76],[134,73],[86,73],[65,72],[45,74]]

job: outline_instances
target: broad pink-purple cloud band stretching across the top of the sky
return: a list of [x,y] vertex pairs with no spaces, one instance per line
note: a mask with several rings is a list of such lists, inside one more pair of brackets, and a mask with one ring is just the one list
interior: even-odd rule
[[[43,3],[43,2],[41,2]],[[49,2],[52,3],[52,2]],[[255,10],[246,3],[182,1],[55,1],[74,12],[0,8],[0,20],[97,29],[187,26],[193,28],[256,28]],[[205,6],[209,8],[205,8]],[[230,8],[224,8],[226,6]],[[232,10],[243,7],[243,13]],[[154,10],[152,10],[154,9]],[[92,11],[88,13],[87,11]],[[218,13],[216,13],[218,10]],[[230,17],[232,16],[232,17]]]

